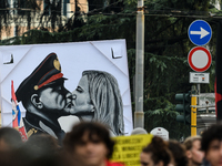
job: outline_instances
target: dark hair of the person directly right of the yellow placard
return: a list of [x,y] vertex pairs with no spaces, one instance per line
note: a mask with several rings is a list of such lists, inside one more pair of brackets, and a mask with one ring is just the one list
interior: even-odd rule
[[163,166],[168,166],[171,160],[171,153],[168,148],[168,143],[158,136],[154,136],[152,142],[144,147],[142,152],[151,154],[151,158],[154,164],[163,162]]

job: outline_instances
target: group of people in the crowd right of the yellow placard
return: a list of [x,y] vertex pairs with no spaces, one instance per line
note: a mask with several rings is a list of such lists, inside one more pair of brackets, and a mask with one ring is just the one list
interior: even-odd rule
[[214,124],[201,136],[183,143],[154,136],[140,155],[141,166],[221,166],[222,124]]

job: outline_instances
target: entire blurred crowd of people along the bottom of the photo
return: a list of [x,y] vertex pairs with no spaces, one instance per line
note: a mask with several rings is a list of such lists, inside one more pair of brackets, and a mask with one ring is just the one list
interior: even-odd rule
[[[124,166],[110,160],[113,146],[110,131],[95,122],[75,124],[62,144],[49,134],[33,135],[22,142],[17,129],[2,127],[0,166]],[[153,136],[138,157],[141,166],[220,166],[222,125],[212,125],[201,136],[188,137],[183,143]]]

